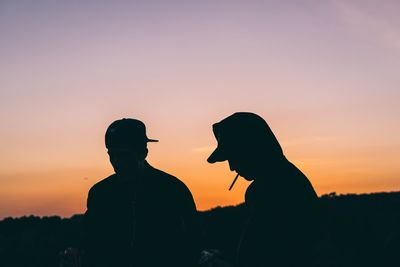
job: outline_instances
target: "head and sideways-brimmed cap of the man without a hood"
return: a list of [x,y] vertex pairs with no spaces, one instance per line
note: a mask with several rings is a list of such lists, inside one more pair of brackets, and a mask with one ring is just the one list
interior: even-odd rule
[[136,119],[116,120],[108,126],[105,143],[110,162],[116,173],[130,174],[138,170],[140,162],[147,157],[146,126]]

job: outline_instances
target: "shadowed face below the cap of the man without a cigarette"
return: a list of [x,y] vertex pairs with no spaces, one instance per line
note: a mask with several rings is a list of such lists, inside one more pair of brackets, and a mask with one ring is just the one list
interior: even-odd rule
[[109,148],[108,156],[115,173],[121,175],[134,174],[139,169],[139,162],[143,157],[133,149]]

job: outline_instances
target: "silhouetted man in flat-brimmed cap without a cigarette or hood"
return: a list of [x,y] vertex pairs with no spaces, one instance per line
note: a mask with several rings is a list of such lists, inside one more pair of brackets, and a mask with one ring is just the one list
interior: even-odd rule
[[192,266],[196,207],[177,178],[151,167],[143,122],[114,121],[105,143],[115,174],[89,191],[87,266]]

